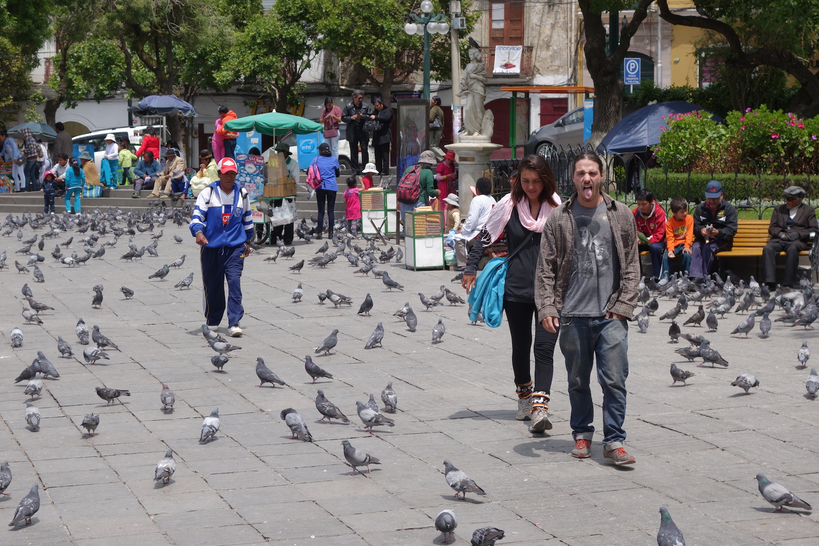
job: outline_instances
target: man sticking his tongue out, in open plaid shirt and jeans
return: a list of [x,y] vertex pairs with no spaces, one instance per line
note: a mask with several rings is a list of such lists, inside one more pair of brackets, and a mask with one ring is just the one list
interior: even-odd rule
[[603,457],[633,464],[626,431],[628,323],[637,305],[640,256],[631,210],[600,190],[603,161],[593,151],[575,156],[576,193],[552,211],[541,238],[535,304],[543,327],[559,329],[572,404],[572,457],[589,458],[595,434],[590,375],[597,364],[603,388]]

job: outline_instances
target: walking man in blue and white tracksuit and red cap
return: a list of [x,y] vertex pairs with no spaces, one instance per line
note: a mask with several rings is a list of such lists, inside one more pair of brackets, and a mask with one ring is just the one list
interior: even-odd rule
[[228,282],[228,333],[242,336],[242,268],[251,252],[253,220],[247,190],[236,183],[236,161],[219,161],[219,180],[197,197],[191,233],[201,246],[202,284],[207,325],[215,330],[224,316],[224,282]]

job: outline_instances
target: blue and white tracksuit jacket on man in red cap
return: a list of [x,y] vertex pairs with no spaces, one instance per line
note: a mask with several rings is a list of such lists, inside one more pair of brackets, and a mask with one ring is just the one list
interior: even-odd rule
[[253,211],[247,190],[235,184],[233,203],[222,203],[221,196],[217,180],[201,191],[193,207],[191,234],[196,237],[197,232],[203,232],[206,248],[233,248],[253,237]]

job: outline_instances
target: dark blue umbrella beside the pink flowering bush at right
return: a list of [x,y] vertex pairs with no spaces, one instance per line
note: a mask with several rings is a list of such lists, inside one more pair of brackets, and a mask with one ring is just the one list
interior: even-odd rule
[[[644,106],[618,121],[600,142],[597,151],[608,154],[646,151],[649,146],[660,143],[660,134],[663,133],[662,128],[668,126],[669,115],[693,111],[708,112],[702,106],[682,101],[656,102]],[[718,115],[713,115],[712,120],[718,123],[725,121]]]

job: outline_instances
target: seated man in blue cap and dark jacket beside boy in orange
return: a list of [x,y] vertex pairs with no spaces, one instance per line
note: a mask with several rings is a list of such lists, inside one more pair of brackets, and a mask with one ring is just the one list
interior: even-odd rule
[[705,201],[694,210],[694,246],[691,246],[689,277],[702,282],[708,277],[717,252],[731,250],[736,235],[736,209],[722,199],[722,184],[705,185]]

